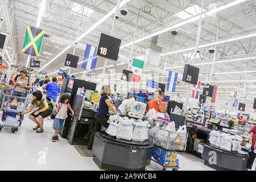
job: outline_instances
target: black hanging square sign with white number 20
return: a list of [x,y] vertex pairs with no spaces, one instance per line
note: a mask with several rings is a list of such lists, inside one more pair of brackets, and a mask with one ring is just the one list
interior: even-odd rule
[[182,81],[189,84],[197,85],[199,68],[185,64]]

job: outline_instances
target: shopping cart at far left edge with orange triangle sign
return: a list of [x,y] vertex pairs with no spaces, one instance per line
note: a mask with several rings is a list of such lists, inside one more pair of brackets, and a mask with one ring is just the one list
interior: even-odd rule
[[[4,114],[5,111],[23,113],[27,107],[28,92],[29,90],[3,86],[3,90],[0,94],[0,110],[2,114]],[[9,123],[2,120],[0,123],[0,131],[3,127],[11,127],[11,131],[15,133],[15,131],[18,131],[18,127],[21,125],[22,121],[23,116],[20,117],[16,123]]]

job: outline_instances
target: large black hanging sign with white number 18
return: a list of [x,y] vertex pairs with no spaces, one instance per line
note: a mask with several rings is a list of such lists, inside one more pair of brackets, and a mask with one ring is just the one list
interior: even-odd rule
[[117,61],[121,40],[102,34],[97,46],[97,55]]

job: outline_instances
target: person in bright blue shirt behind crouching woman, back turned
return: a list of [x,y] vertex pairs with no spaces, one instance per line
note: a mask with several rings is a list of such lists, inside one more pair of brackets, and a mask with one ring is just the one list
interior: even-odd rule
[[[60,94],[60,86],[57,85],[56,82],[57,82],[57,78],[53,77],[52,82],[47,84],[46,88],[44,89],[47,92],[47,97],[52,98],[54,103],[57,102],[57,97]],[[52,114],[53,115],[55,114],[55,109],[52,110]],[[49,116],[48,119],[50,120],[51,116]]]

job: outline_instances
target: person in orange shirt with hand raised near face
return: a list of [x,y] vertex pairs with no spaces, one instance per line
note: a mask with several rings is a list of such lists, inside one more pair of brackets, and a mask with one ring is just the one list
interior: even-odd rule
[[156,111],[163,113],[164,111],[166,111],[166,103],[164,103],[161,100],[162,91],[160,89],[155,90],[154,96],[155,96],[155,100],[151,100],[148,102],[149,109],[154,108]]

